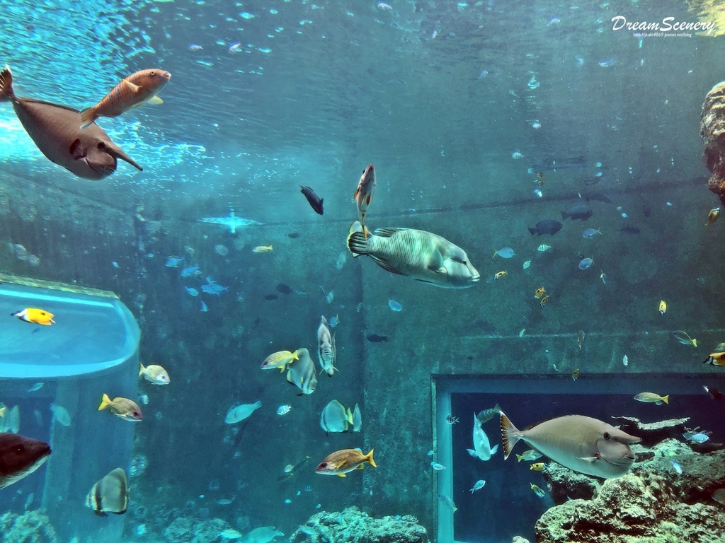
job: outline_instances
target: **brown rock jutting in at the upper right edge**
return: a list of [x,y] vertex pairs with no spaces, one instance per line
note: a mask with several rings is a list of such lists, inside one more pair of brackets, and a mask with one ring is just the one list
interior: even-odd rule
[[705,96],[700,114],[700,136],[705,144],[703,162],[712,172],[708,188],[725,205],[725,81]]

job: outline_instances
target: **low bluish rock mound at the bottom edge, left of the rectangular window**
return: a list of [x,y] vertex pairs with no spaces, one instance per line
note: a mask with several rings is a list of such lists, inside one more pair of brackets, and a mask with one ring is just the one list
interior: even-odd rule
[[410,516],[372,518],[355,507],[310,517],[290,543],[428,543],[426,529]]

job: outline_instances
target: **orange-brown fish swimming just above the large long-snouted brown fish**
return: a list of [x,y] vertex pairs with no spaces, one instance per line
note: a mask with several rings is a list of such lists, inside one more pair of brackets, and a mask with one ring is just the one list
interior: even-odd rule
[[118,117],[147,102],[161,104],[161,98],[156,95],[170,79],[169,72],[157,69],[141,70],[124,77],[98,104],[80,111],[80,127],[92,125],[99,117]]

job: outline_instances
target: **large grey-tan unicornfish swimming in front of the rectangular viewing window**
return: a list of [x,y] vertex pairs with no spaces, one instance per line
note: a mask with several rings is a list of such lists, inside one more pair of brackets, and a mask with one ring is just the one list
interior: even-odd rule
[[521,439],[573,471],[602,479],[623,476],[634,463],[629,445],[642,441],[596,418],[567,415],[517,429],[501,413],[504,459]]

